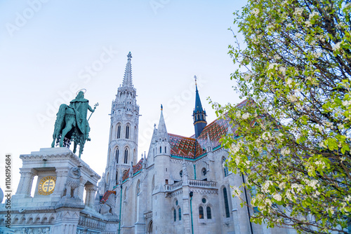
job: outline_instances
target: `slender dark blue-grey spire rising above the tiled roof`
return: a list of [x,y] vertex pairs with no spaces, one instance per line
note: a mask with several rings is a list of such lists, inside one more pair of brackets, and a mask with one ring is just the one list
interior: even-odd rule
[[196,95],[195,95],[195,108],[194,112],[192,113],[192,117],[194,119],[194,128],[195,128],[195,138],[199,137],[202,130],[207,125],[206,122],[206,111],[202,109],[201,100],[199,96],[199,90],[197,90],[197,76],[195,78],[195,86],[196,86]]

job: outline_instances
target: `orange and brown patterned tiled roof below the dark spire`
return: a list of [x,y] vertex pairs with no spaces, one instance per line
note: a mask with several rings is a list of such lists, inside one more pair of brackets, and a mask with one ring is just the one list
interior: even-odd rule
[[[248,102],[249,100],[246,99],[237,104],[237,107],[241,108]],[[216,148],[217,146],[220,146],[220,138],[227,134],[229,126],[229,121],[223,118],[217,118],[212,123],[206,125],[197,139],[195,139],[195,135],[192,135],[191,137],[183,137],[168,133],[171,144],[171,155],[182,158],[197,158],[206,153],[207,135],[211,141],[212,147]],[[234,128],[232,126],[231,128],[232,132],[234,132]]]

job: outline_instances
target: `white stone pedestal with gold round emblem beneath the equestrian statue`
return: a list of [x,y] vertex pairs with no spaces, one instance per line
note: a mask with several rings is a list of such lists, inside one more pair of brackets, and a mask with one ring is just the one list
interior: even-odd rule
[[[117,216],[95,210],[100,176],[72,151],[65,147],[40,149],[20,158],[20,183],[11,198],[12,233],[117,233]],[[38,179],[31,197],[34,177]],[[6,207],[0,205],[0,221],[6,214]]]

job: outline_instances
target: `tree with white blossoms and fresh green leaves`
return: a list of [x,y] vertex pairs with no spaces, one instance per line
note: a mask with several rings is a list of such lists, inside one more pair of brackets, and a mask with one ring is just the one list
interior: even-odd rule
[[249,0],[234,13],[246,48],[230,46],[231,78],[250,102],[213,106],[236,126],[222,141],[227,165],[256,191],[246,204],[255,223],[350,228],[350,12],[350,0]]

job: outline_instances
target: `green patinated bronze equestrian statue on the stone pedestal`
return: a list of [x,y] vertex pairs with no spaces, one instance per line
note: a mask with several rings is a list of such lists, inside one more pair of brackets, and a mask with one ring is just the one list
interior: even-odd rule
[[54,147],[56,142],[56,145],[60,145],[60,147],[66,146],[69,148],[71,142],[74,142],[73,153],[76,153],[77,145],[79,145],[79,158],[81,157],[85,142],[91,140],[89,138],[90,127],[86,116],[88,110],[93,113],[98,106],[97,103],[92,109],[88,102],[87,99],[84,99],[84,92],[79,91],[77,97],[69,103],[69,106],[66,104],[60,105],[56,114],[51,147]]

